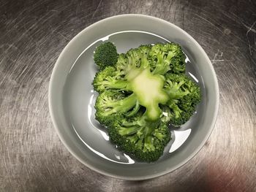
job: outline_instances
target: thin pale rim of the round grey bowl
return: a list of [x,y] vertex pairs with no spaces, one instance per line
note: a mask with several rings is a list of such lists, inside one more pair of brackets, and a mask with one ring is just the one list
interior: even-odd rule
[[[211,121],[211,125],[209,125],[209,130],[206,134],[206,136],[204,137],[204,139],[202,140],[202,142],[200,143],[200,145],[198,145],[196,147],[196,149],[194,150],[194,152],[191,153],[191,155],[189,155],[186,159],[184,159],[183,161],[181,161],[179,164],[177,164],[176,166],[173,166],[172,169],[167,169],[163,172],[157,172],[157,173],[153,173],[153,174],[149,174],[146,176],[139,176],[139,177],[128,177],[128,176],[121,176],[118,174],[110,174],[109,172],[105,172],[102,171],[101,169],[98,169],[96,166],[92,166],[91,164],[88,164],[84,159],[80,158],[78,155],[76,155],[76,153],[72,150],[71,147],[69,147],[68,143],[66,142],[66,140],[64,139],[64,137],[62,137],[61,131],[56,123],[56,116],[53,113],[53,101],[52,101],[52,90],[53,90],[53,77],[56,75],[57,73],[57,66],[59,66],[60,61],[62,60],[62,58],[64,57],[64,53],[66,52],[66,50],[69,49],[69,45],[72,44],[72,42],[75,42],[75,39],[77,39],[78,37],[80,37],[81,34],[85,33],[86,31],[89,30],[89,28],[92,28],[94,26],[100,25],[101,23],[104,23],[107,20],[112,20],[114,18],[127,18],[127,17],[143,17],[143,18],[149,18],[151,20],[156,20],[162,23],[165,23],[165,25],[171,26],[172,28],[176,28],[176,30],[180,31],[181,33],[184,33],[189,40],[191,40],[199,49],[200,49],[200,53],[203,54],[203,56],[206,58],[206,60],[208,61],[209,67],[211,69],[211,72],[213,74],[214,77],[214,85],[215,87],[215,94],[216,94],[216,103],[215,103],[215,111],[214,111],[214,116],[213,116],[213,120]],[[78,159],[78,161],[80,161],[83,165],[87,166],[89,169],[98,172],[100,174],[104,174],[107,175],[109,177],[114,177],[117,179],[122,179],[122,180],[148,180],[148,179],[152,179],[155,177],[159,177],[162,175],[165,175],[167,173],[173,172],[174,170],[180,168],[181,166],[184,166],[185,164],[187,164],[187,162],[189,160],[191,160],[192,158],[195,157],[195,155],[197,155],[197,153],[200,152],[200,150],[202,149],[203,145],[205,145],[206,141],[208,140],[208,138],[210,137],[213,129],[214,129],[214,125],[216,123],[217,120],[217,115],[219,112],[219,84],[218,84],[218,80],[217,80],[217,75],[216,72],[214,71],[214,66],[211,63],[211,60],[208,58],[208,55],[206,54],[206,52],[203,50],[203,47],[201,47],[199,45],[199,43],[191,36],[189,35],[186,31],[184,31],[182,28],[176,26],[173,23],[168,22],[167,20],[163,20],[161,18],[156,18],[150,15],[142,15],[142,14],[122,14],[122,15],[114,15],[102,20],[97,21],[96,23],[92,23],[90,26],[87,26],[86,28],[84,28],[82,31],[80,31],[78,34],[75,35],[75,37],[73,37],[68,44],[64,47],[64,49],[61,51],[61,54],[59,55],[59,58],[57,59],[54,67],[53,67],[53,71],[52,74],[50,76],[50,83],[49,83],[49,87],[48,87],[48,107],[50,110],[50,117],[53,121],[53,127],[55,128],[59,139],[61,139],[61,142],[64,144],[64,146],[67,148],[67,150],[69,151],[69,153],[71,153],[75,158]]]

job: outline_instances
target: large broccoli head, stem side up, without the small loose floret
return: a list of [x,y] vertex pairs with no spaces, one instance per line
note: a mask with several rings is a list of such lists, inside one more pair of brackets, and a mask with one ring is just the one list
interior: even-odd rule
[[167,43],[141,45],[102,65],[92,82],[95,118],[119,149],[156,161],[170,141],[168,125],[181,126],[195,112],[200,88],[184,74],[184,60],[181,47]]

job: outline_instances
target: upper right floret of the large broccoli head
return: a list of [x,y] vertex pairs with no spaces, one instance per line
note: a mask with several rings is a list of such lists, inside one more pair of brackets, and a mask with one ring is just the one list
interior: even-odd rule
[[151,47],[148,53],[151,58],[153,74],[166,74],[167,72],[180,74],[185,72],[185,58],[181,46],[175,43],[157,44]]

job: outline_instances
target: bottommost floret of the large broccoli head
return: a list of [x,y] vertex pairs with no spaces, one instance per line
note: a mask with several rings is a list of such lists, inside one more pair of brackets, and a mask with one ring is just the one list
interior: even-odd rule
[[160,120],[149,122],[145,116],[116,120],[108,127],[113,143],[140,161],[156,161],[170,141],[170,130]]

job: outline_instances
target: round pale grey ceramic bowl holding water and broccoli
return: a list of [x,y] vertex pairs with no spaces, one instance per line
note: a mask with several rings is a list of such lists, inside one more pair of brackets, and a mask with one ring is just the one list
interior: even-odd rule
[[[173,129],[172,141],[154,163],[141,163],[116,149],[94,120],[93,52],[106,40],[115,43],[118,53],[142,44],[177,42],[187,55],[187,75],[200,85],[203,98],[196,114]],[[203,48],[181,28],[146,15],[118,15],[84,29],[64,48],[50,78],[50,115],[69,152],[90,169],[125,180],[146,180],[184,165],[211,134],[218,106],[217,77]]]

